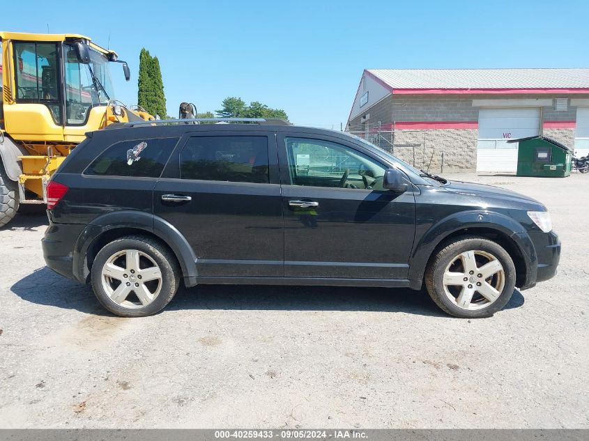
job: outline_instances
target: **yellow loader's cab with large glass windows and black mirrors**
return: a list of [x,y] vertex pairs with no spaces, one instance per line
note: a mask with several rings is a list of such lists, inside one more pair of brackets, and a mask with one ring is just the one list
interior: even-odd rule
[[115,52],[72,34],[0,33],[3,44],[3,114],[19,141],[77,143],[85,133],[126,122],[114,104]]

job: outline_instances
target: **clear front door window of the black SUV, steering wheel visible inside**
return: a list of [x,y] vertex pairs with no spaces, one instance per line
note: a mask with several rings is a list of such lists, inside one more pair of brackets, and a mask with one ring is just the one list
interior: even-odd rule
[[287,137],[286,157],[291,185],[383,189],[386,167],[342,144]]

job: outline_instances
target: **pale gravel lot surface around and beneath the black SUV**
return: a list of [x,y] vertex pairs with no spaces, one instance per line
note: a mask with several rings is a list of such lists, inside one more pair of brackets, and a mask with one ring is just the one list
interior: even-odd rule
[[492,318],[381,288],[181,289],[148,318],[45,268],[39,207],[0,231],[0,427],[589,428],[589,177],[455,175],[546,203],[558,276]]

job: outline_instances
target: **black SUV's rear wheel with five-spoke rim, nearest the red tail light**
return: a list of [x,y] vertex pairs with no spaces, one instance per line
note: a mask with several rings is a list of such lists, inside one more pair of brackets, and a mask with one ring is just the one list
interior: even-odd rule
[[121,317],[161,311],[180,284],[176,256],[161,242],[141,235],[105,245],[91,269],[92,288],[107,310]]

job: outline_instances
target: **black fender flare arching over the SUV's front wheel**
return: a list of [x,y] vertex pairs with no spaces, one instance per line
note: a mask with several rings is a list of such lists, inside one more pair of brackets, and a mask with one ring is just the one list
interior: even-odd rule
[[512,217],[486,210],[468,210],[453,213],[432,225],[423,235],[415,238],[409,261],[410,286],[420,289],[426,265],[434,250],[449,235],[467,228],[484,228],[506,235],[519,249],[526,265],[526,284],[535,280],[537,256],[526,229]]

